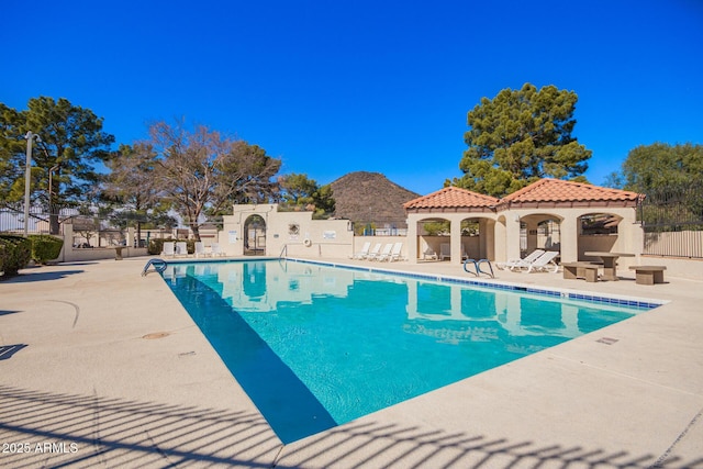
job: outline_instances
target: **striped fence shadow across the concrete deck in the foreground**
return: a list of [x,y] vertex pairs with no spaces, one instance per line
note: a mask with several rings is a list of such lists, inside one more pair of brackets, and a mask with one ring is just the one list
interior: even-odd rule
[[703,468],[703,458],[657,459],[375,422],[344,425],[281,451],[258,413],[3,386],[0,409],[0,440],[27,449],[0,454],[0,465],[13,468]]

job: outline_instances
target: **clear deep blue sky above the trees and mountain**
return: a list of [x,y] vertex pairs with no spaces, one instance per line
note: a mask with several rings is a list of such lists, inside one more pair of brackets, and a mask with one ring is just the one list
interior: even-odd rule
[[525,82],[579,96],[602,183],[627,153],[703,143],[703,0],[3,0],[0,102],[66,98],[118,143],[185,118],[328,183],[461,176],[467,112]]

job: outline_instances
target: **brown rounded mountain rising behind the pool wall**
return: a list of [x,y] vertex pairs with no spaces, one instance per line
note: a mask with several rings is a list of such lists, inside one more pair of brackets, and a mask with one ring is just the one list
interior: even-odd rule
[[357,224],[375,223],[377,227],[404,227],[403,203],[420,197],[380,172],[349,172],[331,186],[335,216]]

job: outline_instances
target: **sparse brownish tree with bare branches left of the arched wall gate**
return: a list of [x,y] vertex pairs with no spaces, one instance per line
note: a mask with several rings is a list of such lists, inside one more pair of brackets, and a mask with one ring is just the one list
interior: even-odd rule
[[281,161],[244,141],[183,122],[157,122],[149,127],[156,152],[155,188],[200,239],[208,214],[222,213],[233,201],[267,197]]

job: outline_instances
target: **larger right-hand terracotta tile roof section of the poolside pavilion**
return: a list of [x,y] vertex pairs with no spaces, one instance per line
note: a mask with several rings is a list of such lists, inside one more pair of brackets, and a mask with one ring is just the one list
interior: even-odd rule
[[505,196],[501,199],[501,204],[534,202],[634,202],[637,201],[638,198],[639,194],[636,192],[545,178]]

